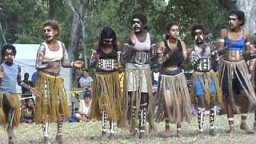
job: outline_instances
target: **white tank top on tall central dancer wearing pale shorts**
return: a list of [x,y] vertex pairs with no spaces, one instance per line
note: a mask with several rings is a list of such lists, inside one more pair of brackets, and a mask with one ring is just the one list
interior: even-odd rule
[[149,33],[146,34],[146,40],[144,42],[139,42],[138,38],[136,36],[135,36],[135,38],[136,38],[136,41],[134,43],[134,50],[138,50],[138,51],[150,50],[151,41],[150,41]]

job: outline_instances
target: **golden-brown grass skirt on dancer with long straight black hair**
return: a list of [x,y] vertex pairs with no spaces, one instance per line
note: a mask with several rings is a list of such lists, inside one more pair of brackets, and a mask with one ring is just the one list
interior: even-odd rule
[[122,117],[122,93],[118,72],[96,73],[93,82],[93,100],[90,112],[91,118],[102,118],[103,106],[109,120],[118,120]]

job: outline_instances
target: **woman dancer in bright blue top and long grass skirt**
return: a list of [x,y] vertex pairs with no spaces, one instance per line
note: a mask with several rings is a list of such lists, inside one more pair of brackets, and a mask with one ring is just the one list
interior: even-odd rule
[[[253,134],[253,130],[246,123],[248,107],[250,103],[255,104],[256,97],[243,57],[250,53],[250,34],[242,29],[244,22],[243,11],[230,11],[229,28],[221,30],[219,34],[218,53],[223,56],[218,72],[230,125],[228,133],[234,133],[234,112],[241,111],[240,129],[245,130],[247,134]],[[238,106],[241,109],[238,109]]]

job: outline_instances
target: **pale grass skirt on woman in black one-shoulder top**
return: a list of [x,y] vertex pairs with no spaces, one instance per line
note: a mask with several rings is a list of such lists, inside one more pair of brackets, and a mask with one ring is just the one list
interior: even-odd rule
[[190,122],[190,94],[183,72],[176,75],[161,75],[155,120],[162,122],[169,118],[172,123]]

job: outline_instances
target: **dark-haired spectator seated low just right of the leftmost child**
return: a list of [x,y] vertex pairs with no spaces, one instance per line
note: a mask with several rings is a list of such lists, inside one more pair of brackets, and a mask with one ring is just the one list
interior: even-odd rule
[[34,122],[34,99],[30,98],[26,101],[26,105],[22,106],[21,112],[22,123],[33,123]]

